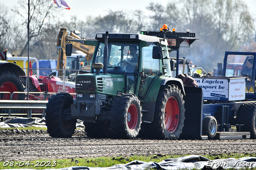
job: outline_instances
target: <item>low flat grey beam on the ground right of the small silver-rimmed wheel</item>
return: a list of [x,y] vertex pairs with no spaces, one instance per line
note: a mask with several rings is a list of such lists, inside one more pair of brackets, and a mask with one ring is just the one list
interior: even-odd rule
[[250,132],[217,132],[215,139],[250,139]]

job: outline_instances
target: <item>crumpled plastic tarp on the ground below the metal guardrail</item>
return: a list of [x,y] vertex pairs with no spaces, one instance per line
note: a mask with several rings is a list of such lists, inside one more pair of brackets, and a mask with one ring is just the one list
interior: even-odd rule
[[[77,120],[76,128],[84,128],[83,122]],[[38,117],[0,117],[0,128],[45,127],[45,119]]]

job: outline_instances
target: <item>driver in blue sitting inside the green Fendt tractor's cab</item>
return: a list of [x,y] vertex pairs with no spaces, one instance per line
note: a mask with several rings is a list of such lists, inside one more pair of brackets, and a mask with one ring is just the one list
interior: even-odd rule
[[123,61],[123,65],[126,67],[126,70],[136,70],[138,69],[138,61],[139,61],[139,57],[137,54],[137,46],[136,45],[130,45],[130,56],[132,58],[130,58],[128,61],[124,60]]

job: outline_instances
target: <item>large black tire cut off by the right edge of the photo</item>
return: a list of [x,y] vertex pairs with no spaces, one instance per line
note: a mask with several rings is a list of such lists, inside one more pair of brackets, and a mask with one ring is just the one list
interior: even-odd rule
[[[236,124],[240,126],[241,132],[250,132],[252,139],[256,139],[256,103],[243,103],[240,105],[237,115]],[[238,125],[236,128],[238,129]]]

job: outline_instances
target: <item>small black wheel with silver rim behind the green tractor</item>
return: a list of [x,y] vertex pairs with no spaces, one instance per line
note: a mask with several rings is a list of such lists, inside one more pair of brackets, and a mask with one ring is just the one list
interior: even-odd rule
[[210,139],[214,138],[217,133],[217,121],[213,116],[206,116],[203,119],[202,134],[208,136]]

